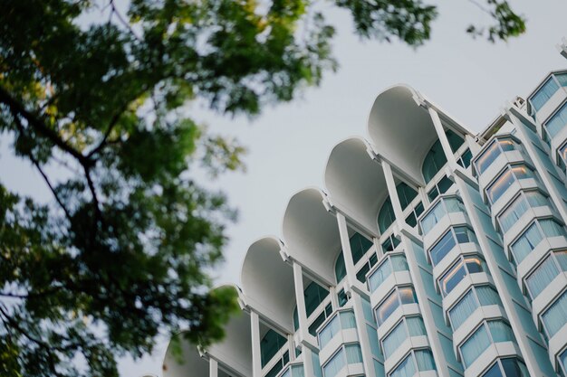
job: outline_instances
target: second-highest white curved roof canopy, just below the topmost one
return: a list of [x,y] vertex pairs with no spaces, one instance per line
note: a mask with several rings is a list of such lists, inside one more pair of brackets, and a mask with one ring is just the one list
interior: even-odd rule
[[325,186],[332,203],[345,208],[351,218],[378,236],[380,205],[388,197],[382,167],[372,161],[367,145],[352,137],[332,148],[325,167]]

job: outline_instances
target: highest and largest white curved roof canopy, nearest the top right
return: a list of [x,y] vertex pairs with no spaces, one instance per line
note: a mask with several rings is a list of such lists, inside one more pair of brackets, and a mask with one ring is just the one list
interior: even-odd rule
[[421,165],[438,137],[428,110],[414,97],[418,92],[406,85],[381,92],[370,110],[368,133],[377,154],[424,184]]

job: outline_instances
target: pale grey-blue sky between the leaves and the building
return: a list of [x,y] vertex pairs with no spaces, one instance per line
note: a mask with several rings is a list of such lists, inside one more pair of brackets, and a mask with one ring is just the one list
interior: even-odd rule
[[[245,251],[254,240],[281,236],[283,212],[293,193],[323,187],[332,147],[347,137],[366,137],[370,106],[380,91],[407,83],[478,132],[506,102],[527,96],[549,71],[567,68],[555,48],[567,36],[564,0],[512,1],[528,20],[527,33],[496,44],[465,33],[470,23],[490,22],[472,1],[438,3],[431,41],[418,50],[399,42],[361,42],[348,14],[332,11],[339,29],[334,40],[339,71],[328,73],[321,87],[306,90],[292,103],[266,108],[258,118],[215,117],[204,108],[190,108],[197,119],[234,135],[249,149],[245,174],[225,174],[207,183],[221,188],[239,211],[239,221],[228,230],[226,262],[216,271],[219,284],[239,283]],[[0,180],[20,193],[49,199],[39,175],[11,156],[5,139],[0,139]],[[163,339],[153,355],[122,360],[121,375],[161,375],[166,347]]]

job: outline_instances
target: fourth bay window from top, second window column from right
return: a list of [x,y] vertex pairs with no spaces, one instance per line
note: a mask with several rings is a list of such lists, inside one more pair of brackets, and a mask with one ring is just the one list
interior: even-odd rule
[[563,227],[553,219],[534,220],[527,231],[524,231],[524,234],[510,246],[514,264],[516,266],[520,264],[543,240],[543,237],[564,235]]

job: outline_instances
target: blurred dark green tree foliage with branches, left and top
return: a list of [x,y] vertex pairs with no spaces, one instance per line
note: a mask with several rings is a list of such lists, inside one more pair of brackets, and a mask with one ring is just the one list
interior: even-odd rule
[[[421,0],[332,5],[360,37],[412,46],[437,16]],[[524,31],[507,3],[487,5],[490,40]],[[332,25],[308,0],[0,7],[0,130],[53,194],[40,203],[0,184],[0,374],[111,377],[160,331],[220,339],[235,297],[210,289],[210,271],[235,212],[193,172],[241,168],[245,149],[185,105],[255,115],[293,99],[336,68]]]

